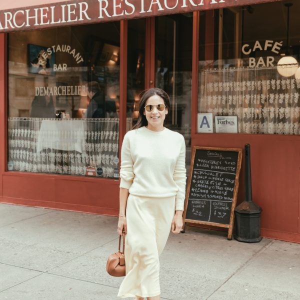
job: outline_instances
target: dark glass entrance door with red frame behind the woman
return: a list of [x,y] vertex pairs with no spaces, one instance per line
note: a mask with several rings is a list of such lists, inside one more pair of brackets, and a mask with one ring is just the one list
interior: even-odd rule
[[128,21],[127,128],[137,120],[138,94],[159,87],[170,96],[165,126],[181,133],[190,164],[192,13]]

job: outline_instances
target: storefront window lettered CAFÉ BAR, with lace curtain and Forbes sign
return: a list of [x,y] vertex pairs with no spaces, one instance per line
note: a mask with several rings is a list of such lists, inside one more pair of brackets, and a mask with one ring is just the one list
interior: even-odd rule
[[289,2],[202,16],[214,46],[200,32],[198,132],[300,133],[300,3]]

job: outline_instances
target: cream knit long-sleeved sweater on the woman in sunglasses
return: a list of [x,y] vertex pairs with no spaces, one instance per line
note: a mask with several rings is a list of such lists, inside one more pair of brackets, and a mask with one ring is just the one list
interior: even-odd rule
[[185,198],[185,142],[181,134],[164,127],[128,131],[121,149],[120,187],[146,197],[176,195],[176,210]]

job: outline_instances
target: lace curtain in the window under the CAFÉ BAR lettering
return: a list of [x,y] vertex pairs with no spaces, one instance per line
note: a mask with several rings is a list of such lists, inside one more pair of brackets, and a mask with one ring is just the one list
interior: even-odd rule
[[199,112],[236,115],[239,133],[300,133],[300,80],[276,67],[207,69],[199,80]]

